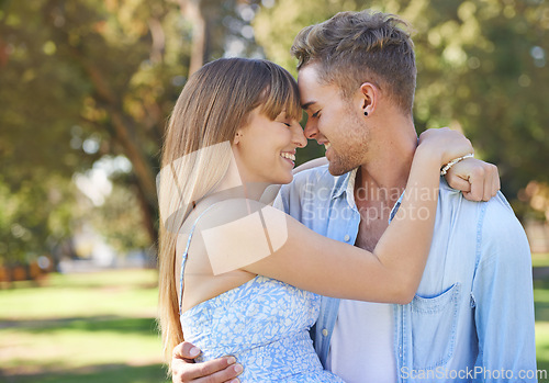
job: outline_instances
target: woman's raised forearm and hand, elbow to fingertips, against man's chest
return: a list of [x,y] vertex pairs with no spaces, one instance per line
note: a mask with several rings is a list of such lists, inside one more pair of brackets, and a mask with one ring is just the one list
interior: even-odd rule
[[404,297],[412,300],[422,279],[433,239],[440,168],[473,148],[448,128],[419,136],[401,206],[373,250]]

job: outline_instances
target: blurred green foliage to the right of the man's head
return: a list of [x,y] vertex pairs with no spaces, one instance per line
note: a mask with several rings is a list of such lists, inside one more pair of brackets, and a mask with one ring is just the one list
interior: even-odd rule
[[416,37],[419,125],[461,125],[498,165],[511,196],[530,180],[549,182],[549,5],[466,1],[425,16],[433,24]]

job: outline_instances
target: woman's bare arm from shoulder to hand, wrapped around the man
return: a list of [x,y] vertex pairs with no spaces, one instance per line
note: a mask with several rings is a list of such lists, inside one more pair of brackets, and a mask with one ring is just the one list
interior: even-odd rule
[[[422,135],[405,198],[373,252],[323,237],[250,201],[212,210],[214,219],[203,221],[210,228],[200,230],[204,250],[217,274],[240,268],[323,295],[410,302],[430,247],[440,167],[470,151],[469,140],[449,129]],[[238,214],[243,218],[231,218]]]

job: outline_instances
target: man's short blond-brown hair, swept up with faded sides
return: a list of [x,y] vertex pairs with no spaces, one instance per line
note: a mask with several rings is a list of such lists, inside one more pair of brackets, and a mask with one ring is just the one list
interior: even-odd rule
[[318,65],[320,80],[337,85],[350,97],[363,82],[388,94],[404,113],[412,114],[416,66],[408,24],[388,13],[340,12],[303,29],[291,52],[298,69]]

